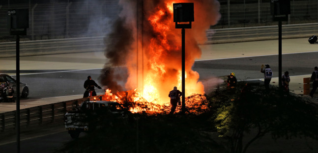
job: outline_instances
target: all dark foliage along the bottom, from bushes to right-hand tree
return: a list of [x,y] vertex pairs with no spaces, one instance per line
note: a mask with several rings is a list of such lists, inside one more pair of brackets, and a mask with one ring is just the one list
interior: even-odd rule
[[[134,102],[125,104],[136,106]],[[58,152],[245,153],[268,133],[273,139],[318,140],[318,106],[276,87],[265,92],[259,84],[238,82],[233,89],[188,97],[187,109],[174,115],[136,113],[128,120],[107,115],[96,120],[103,123],[101,128],[65,144]],[[247,134],[253,137],[243,141]],[[217,143],[218,136],[227,144]]]

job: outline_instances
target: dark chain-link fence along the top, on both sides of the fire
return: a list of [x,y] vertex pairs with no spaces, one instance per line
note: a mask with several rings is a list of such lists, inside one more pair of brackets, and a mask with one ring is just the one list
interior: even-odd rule
[[[15,41],[8,34],[7,10],[29,8],[25,40],[105,36],[109,23],[119,15],[119,0],[1,0],[0,42]],[[136,0],[137,1],[137,0]],[[218,0],[222,15],[211,29],[277,26],[270,14],[271,0]],[[318,0],[290,0],[289,21],[283,25],[318,21]]]

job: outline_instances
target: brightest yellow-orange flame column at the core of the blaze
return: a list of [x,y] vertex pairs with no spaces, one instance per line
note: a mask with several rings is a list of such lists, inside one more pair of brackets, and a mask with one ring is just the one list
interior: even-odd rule
[[[147,18],[149,27],[154,31],[154,36],[149,37],[144,50],[147,67],[145,69],[143,96],[148,102],[169,103],[168,93],[177,86],[181,89],[181,34],[175,29],[173,23],[173,3],[166,0],[162,5],[157,5],[155,11]],[[196,52],[196,51],[195,51]],[[200,51],[197,51],[200,54]],[[188,57],[192,58],[192,57]],[[198,82],[199,74],[191,70],[194,59],[187,61],[187,77],[185,96],[193,93],[204,94],[203,85]],[[189,76],[188,74],[192,74]]]

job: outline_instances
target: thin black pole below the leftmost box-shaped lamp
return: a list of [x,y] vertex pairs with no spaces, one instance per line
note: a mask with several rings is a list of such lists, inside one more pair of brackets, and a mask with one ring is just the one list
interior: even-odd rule
[[16,93],[17,93],[17,110],[16,110],[16,120],[15,120],[15,128],[17,130],[17,153],[20,153],[20,36],[17,35],[16,38]]

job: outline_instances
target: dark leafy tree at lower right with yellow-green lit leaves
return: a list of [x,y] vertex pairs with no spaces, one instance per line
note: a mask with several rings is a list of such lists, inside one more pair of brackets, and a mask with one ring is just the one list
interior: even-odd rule
[[[238,83],[234,89],[214,93],[212,117],[220,136],[228,140],[231,153],[245,153],[266,133],[274,139],[306,136],[318,140],[318,106],[276,87],[265,91],[258,84]],[[243,144],[244,135],[257,130]]]

